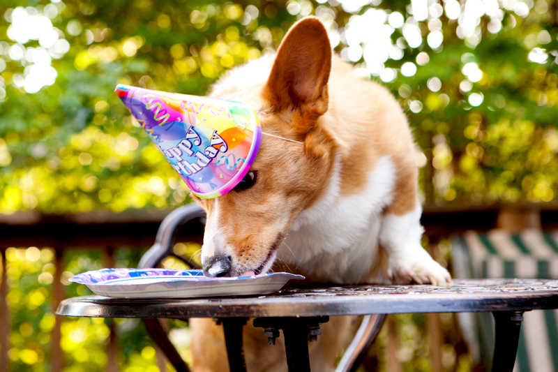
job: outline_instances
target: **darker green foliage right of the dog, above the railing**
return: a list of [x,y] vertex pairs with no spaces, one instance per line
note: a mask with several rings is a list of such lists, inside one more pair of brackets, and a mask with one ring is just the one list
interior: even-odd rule
[[[423,105],[409,119],[428,159],[434,188],[428,194],[430,178],[424,180],[429,202],[554,198],[558,67],[554,55],[543,64],[528,58],[533,48],[542,47],[539,41],[549,50],[558,48],[557,28],[545,21],[547,13],[534,11],[522,18],[505,12],[502,31],[490,34],[482,28],[483,39],[474,48],[451,38],[455,31],[449,24],[443,49],[429,52],[430,62],[402,79],[412,88],[409,101]],[[470,62],[483,75],[478,82],[469,81],[467,90],[460,70]],[[442,82],[436,93],[428,89],[432,77]],[[467,100],[472,93],[483,95],[481,105]],[[439,94],[446,95],[447,104]]]

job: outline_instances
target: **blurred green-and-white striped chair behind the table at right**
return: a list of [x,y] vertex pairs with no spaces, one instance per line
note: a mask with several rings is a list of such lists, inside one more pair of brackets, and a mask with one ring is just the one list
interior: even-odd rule
[[[455,278],[558,279],[558,232],[467,232],[452,243]],[[558,311],[532,311],[524,318],[514,371],[558,371]],[[474,362],[490,371],[492,316],[462,313],[459,319]]]

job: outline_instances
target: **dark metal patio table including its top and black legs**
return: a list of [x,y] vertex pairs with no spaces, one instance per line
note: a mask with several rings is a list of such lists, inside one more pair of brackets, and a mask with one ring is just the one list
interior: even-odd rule
[[285,288],[259,297],[114,299],[74,297],[56,313],[96,318],[215,318],[222,322],[231,371],[246,371],[241,329],[248,318],[269,341],[282,329],[289,371],[310,371],[308,338],[333,315],[491,312],[495,318],[492,371],[513,370],[525,311],[558,308],[558,281],[455,280],[432,285],[354,285]]

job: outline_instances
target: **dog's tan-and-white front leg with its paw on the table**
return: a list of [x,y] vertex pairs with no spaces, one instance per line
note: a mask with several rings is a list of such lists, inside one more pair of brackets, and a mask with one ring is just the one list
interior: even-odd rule
[[407,174],[398,174],[393,202],[384,211],[379,235],[380,245],[389,255],[388,275],[395,283],[445,285],[451,281],[448,271],[421,246],[424,229],[414,164],[403,173]]

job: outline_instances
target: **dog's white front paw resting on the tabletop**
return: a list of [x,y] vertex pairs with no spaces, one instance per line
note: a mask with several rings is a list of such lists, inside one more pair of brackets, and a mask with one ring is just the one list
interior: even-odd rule
[[391,255],[388,275],[397,284],[446,285],[451,283],[451,276],[438,262],[422,248]]

